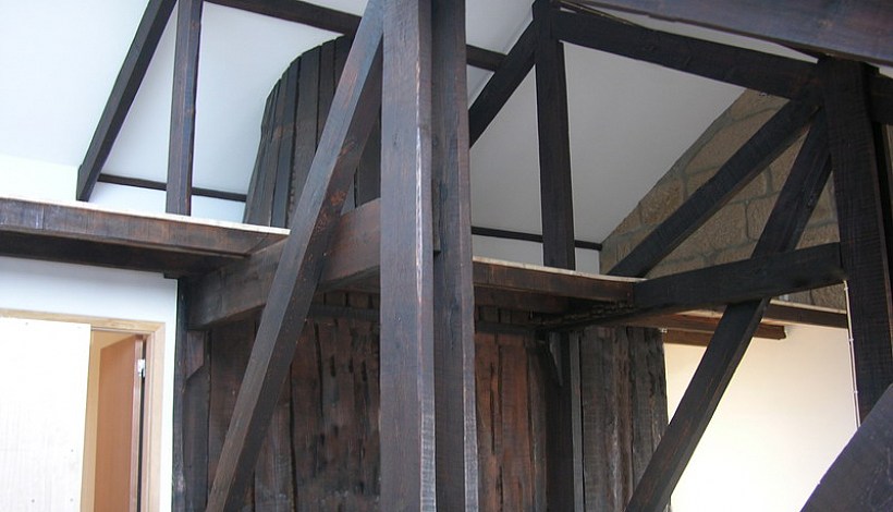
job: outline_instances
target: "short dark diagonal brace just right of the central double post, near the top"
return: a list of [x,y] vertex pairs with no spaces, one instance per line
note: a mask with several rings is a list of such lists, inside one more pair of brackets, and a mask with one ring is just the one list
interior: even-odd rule
[[468,110],[468,133],[472,146],[480,138],[518,85],[530,73],[530,69],[534,68],[536,47],[537,26],[530,23],[509,50],[502,65],[487,81],[487,85],[484,86]]

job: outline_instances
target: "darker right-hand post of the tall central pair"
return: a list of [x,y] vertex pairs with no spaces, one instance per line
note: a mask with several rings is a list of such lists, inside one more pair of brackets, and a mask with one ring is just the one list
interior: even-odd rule
[[[474,511],[479,503],[465,61],[465,0],[432,2],[431,202],[440,240],[432,263],[437,507]],[[526,380],[522,391],[526,403]]]

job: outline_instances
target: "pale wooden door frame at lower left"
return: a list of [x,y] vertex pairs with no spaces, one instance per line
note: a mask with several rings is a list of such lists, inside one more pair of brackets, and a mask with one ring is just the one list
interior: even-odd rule
[[71,324],[88,324],[90,332],[112,331],[142,334],[146,341],[146,382],[143,430],[143,489],[142,510],[160,510],[161,486],[161,431],[163,423],[164,389],[164,324],[156,321],[124,320],[117,318],[42,313],[0,308],[0,317],[27,320],[48,320]]

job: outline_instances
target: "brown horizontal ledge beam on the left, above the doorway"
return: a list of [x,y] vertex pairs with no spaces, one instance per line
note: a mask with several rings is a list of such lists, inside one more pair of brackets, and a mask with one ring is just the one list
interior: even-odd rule
[[0,254],[174,276],[247,258],[283,230],[134,215],[85,204],[0,199]]

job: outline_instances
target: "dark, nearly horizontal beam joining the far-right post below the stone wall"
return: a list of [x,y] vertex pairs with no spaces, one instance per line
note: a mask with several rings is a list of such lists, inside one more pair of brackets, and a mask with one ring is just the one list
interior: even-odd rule
[[839,284],[846,279],[837,243],[755,257],[634,284],[636,314],[700,309]]

